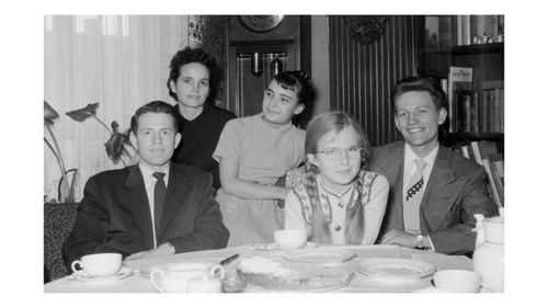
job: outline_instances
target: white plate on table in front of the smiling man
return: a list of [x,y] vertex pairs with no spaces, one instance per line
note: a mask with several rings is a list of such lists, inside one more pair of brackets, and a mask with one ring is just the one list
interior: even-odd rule
[[432,264],[410,259],[368,259],[359,263],[357,272],[380,280],[409,281],[432,275]]

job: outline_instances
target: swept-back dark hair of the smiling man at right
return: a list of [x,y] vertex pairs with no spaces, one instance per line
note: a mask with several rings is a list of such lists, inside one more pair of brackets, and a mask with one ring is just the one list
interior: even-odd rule
[[406,77],[396,82],[390,93],[390,100],[396,113],[396,99],[407,92],[427,92],[436,106],[436,110],[447,110],[447,98],[439,79],[433,77]]

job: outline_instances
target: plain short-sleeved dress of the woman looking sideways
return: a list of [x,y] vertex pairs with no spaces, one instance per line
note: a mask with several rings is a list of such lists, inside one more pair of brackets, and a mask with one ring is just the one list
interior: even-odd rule
[[[213,153],[217,161],[238,162],[238,178],[274,185],[287,171],[305,161],[305,130],[287,124],[274,127],[262,114],[229,121]],[[283,229],[276,218],[276,199],[240,198],[217,191],[222,220],[230,231],[228,247],[271,243]]]

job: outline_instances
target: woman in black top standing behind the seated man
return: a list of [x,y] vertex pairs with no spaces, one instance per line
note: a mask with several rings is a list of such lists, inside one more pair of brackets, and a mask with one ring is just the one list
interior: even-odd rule
[[214,104],[218,78],[217,61],[201,48],[179,50],[170,64],[168,89],[178,101],[173,106],[181,125],[181,142],[171,161],[198,167],[213,175],[215,189],[219,183],[219,164],[212,158],[225,124],[235,114]]

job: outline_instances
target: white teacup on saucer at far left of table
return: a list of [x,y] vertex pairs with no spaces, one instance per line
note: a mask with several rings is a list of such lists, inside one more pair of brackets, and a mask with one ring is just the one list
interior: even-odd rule
[[[82,270],[77,270],[80,265]],[[76,260],[70,265],[75,274],[91,277],[109,277],[116,274],[122,267],[122,254],[119,253],[94,253]]]

